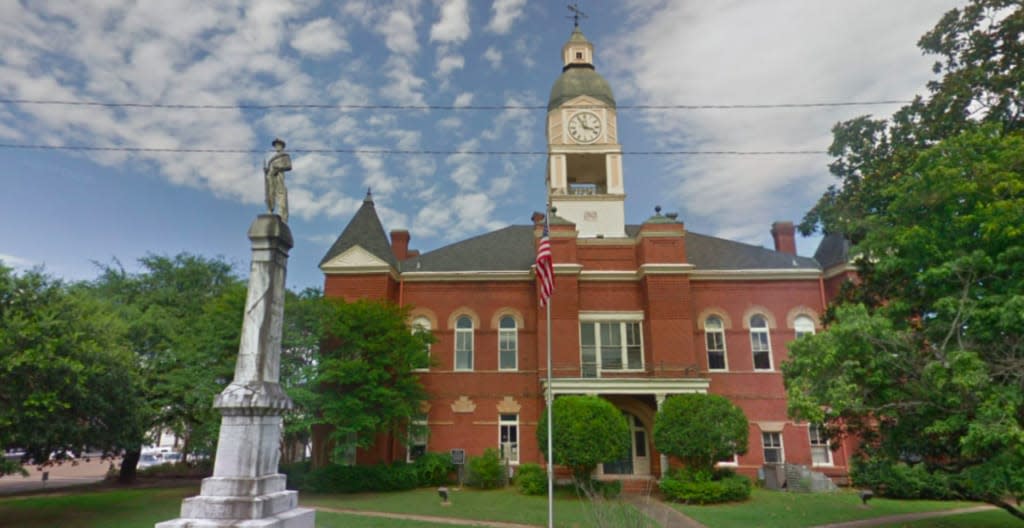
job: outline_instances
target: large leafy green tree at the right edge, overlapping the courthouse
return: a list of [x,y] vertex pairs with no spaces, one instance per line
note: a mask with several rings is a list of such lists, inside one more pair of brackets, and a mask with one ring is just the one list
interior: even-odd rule
[[1024,6],[974,0],[919,44],[930,97],[834,129],[841,184],[802,230],[849,237],[859,282],[792,346],[791,412],[1024,520]]

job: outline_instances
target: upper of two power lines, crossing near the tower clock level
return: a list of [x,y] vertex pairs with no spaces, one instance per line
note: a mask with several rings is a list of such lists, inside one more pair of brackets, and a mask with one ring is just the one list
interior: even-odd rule
[[[906,104],[911,101],[901,99],[882,99],[867,101],[837,101],[837,102],[779,102],[764,104],[620,104],[617,109],[764,109],[764,108],[820,108],[836,106],[878,106],[885,104]],[[35,104],[59,106],[102,106],[115,108],[164,108],[164,109],[381,109],[381,111],[502,111],[502,109],[546,109],[545,104],[328,104],[328,103],[274,103],[274,104],[177,104],[160,102],[108,102],[108,101],[74,101],[58,99],[7,99],[0,98],[0,103]],[[586,108],[589,106],[575,106]],[[594,106],[603,107],[603,106]]]

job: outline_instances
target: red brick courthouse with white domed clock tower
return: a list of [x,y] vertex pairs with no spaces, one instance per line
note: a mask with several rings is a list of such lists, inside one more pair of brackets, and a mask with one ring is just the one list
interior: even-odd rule
[[[411,325],[437,342],[420,375],[430,394],[427,433],[408,443],[382,438],[358,461],[498,448],[512,465],[543,463],[537,425],[550,389],[622,409],[630,455],[597,471],[649,479],[669,465],[651,437],[658,407],[675,394],[712,393],[742,408],[751,428],[746,453],[721,464],[746,475],[786,461],[845,476],[849,446],[833,450],[816,427],[787,419],[780,372],[787,344],[818,329],[850,276],[845,245],[826,238],[815,258],[800,257],[792,222],[765,226],[773,249],[687,231],[660,212],[627,224],[628,138],[618,137],[612,90],[579,29],[562,58],[546,121],[551,386],[534,270],[543,215],[420,254],[408,231],[386,234],[368,194],[321,263],[325,295],[412,305]],[[326,452],[325,432],[314,437]]]

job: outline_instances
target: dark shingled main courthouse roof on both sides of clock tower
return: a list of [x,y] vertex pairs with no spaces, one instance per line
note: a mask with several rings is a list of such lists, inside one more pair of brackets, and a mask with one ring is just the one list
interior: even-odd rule
[[[639,225],[626,226],[630,237],[639,232]],[[534,226],[512,225],[407,259],[401,270],[525,271],[535,248]],[[814,259],[694,232],[686,233],[686,255],[697,269],[820,269]]]

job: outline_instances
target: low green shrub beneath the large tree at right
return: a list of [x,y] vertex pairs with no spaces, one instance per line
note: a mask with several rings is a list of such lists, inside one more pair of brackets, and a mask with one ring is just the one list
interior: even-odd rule
[[929,473],[924,465],[908,466],[888,460],[854,458],[850,480],[858,487],[869,488],[881,496],[890,498],[929,498],[946,500],[955,498],[949,477]]

